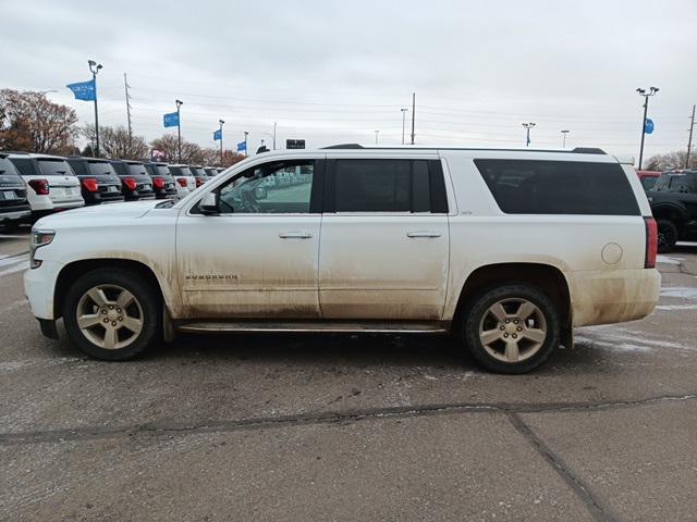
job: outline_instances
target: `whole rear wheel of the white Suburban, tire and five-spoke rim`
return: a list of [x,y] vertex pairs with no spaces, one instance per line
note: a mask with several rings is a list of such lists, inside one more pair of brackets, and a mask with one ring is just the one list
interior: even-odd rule
[[528,285],[484,291],[465,311],[463,323],[472,356],[497,373],[535,370],[559,346],[559,312],[546,294]]

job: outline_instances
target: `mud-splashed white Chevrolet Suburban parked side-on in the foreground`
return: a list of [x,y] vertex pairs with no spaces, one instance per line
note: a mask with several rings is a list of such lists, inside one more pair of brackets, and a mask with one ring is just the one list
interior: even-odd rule
[[25,291],[45,335],[123,360],[176,332],[452,333],[488,370],[575,326],[651,313],[656,223],[599,149],[269,152],[179,202],[40,220]]

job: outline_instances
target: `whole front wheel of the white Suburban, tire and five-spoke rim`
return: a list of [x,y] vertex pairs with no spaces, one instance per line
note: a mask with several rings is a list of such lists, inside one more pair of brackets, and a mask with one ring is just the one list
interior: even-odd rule
[[142,353],[158,337],[159,295],[137,274],[113,269],[88,272],[63,304],[65,330],[86,353],[122,361]]

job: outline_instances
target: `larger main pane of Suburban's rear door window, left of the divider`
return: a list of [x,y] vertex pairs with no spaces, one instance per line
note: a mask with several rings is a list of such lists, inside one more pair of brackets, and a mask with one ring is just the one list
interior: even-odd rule
[[409,212],[409,160],[337,160],[337,212]]

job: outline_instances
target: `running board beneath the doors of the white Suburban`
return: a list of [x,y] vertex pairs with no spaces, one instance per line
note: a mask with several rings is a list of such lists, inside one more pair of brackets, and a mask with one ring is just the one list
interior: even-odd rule
[[441,323],[350,323],[350,322],[298,322],[265,323],[247,321],[207,321],[182,323],[178,332],[326,332],[365,334],[444,334],[448,328]]

